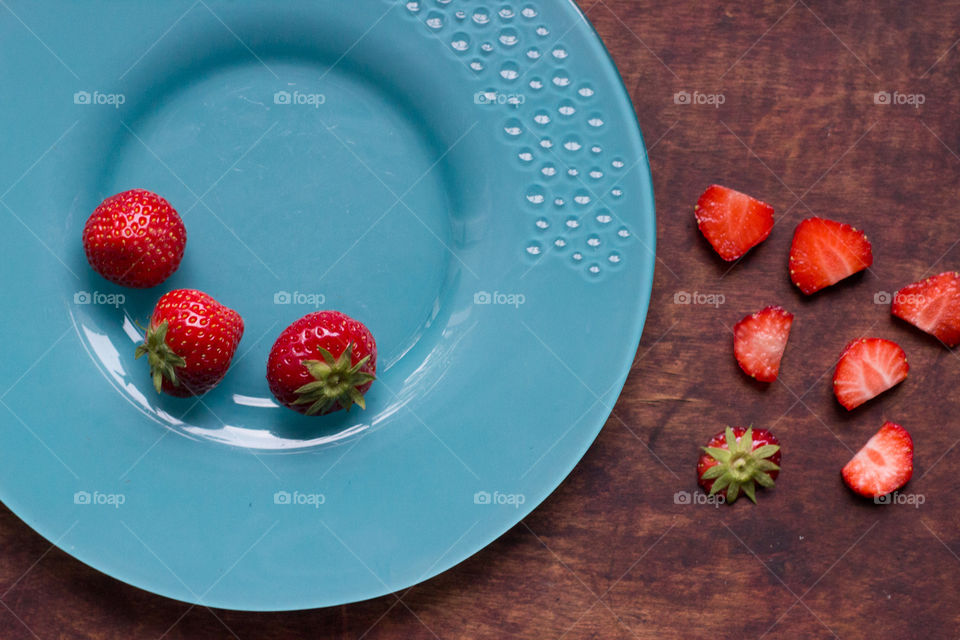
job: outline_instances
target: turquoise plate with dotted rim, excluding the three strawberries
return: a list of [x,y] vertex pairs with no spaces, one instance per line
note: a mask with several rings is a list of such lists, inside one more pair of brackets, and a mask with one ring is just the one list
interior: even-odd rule
[[[30,526],[165,596],[297,609],[429,578],[569,473],[654,258],[640,131],[575,5],[2,4],[0,498]],[[148,291],[80,243],[134,187],[188,230]],[[199,400],[133,359],[177,287],[246,321]],[[270,397],[274,338],[316,308],[376,336],[366,411]]]

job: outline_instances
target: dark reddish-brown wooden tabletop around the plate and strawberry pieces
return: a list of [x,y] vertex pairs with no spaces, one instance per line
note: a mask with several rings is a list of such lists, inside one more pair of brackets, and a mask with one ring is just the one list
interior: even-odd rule
[[[211,611],[129,587],[2,508],[0,637],[960,635],[960,497],[950,484],[960,355],[874,304],[878,292],[960,267],[960,3],[581,4],[646,136],[658,261],[632,374],[563,485],[425,584],[283,614]],[[678,104],[681,91],[722,104]],[[876,104],[877,92],[906,102]],[[734,266],[694,225],[693,203],[712,182],[776,208],[771,237]],[[787,250],[795,224],[814,214],[866,229],[875,264],[805,298],[789,283]],[[723,303],[677,304],[678,292]],[[739,372],[730,327],[771,303],[797,317],[781,380],[764,387]],[[860,335],[899,342],[911,370],[882,400],[847,413],[830,376]],[[886,419],[914,436],[905,492],[922,505],[877,506],[841,482],[851,450]],[[695,489],[697,446],[750,423],[783,443],[777,487],[756,506],[677,504],[676,492]]]

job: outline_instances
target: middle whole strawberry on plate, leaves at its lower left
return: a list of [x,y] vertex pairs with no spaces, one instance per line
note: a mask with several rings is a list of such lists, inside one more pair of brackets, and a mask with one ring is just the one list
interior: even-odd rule
[[135,356],[147,356],[153,386],[172,396],[199,396],[223,380],[243,337],[243,318],[196,289],[157,301]]

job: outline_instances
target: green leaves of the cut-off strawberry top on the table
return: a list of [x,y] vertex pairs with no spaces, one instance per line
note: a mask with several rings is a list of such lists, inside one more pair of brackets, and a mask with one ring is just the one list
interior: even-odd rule
[[768,458],[779,451],[780,446],[765,444],[754,449],[753,427],[748,428],[739,441],[730,427],[726,428],[724,436],[727,440],[726,448],[702,447],[717,464],[704,471],[700,477],[714,480],[710,495],[726,489],[727,502],[733,502],[743,490],[743,493],[756,503],[756,485],[769,488],[774,484],[770,472],[777,471],[780,467]]

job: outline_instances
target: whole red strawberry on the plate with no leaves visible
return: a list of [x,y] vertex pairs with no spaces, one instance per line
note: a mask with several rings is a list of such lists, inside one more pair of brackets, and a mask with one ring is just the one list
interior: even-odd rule
[[100,203],[83,228],[83,250],[93,270],[124,287],[155,287],[183,259],[187,231],[170,203],[131,189]]

